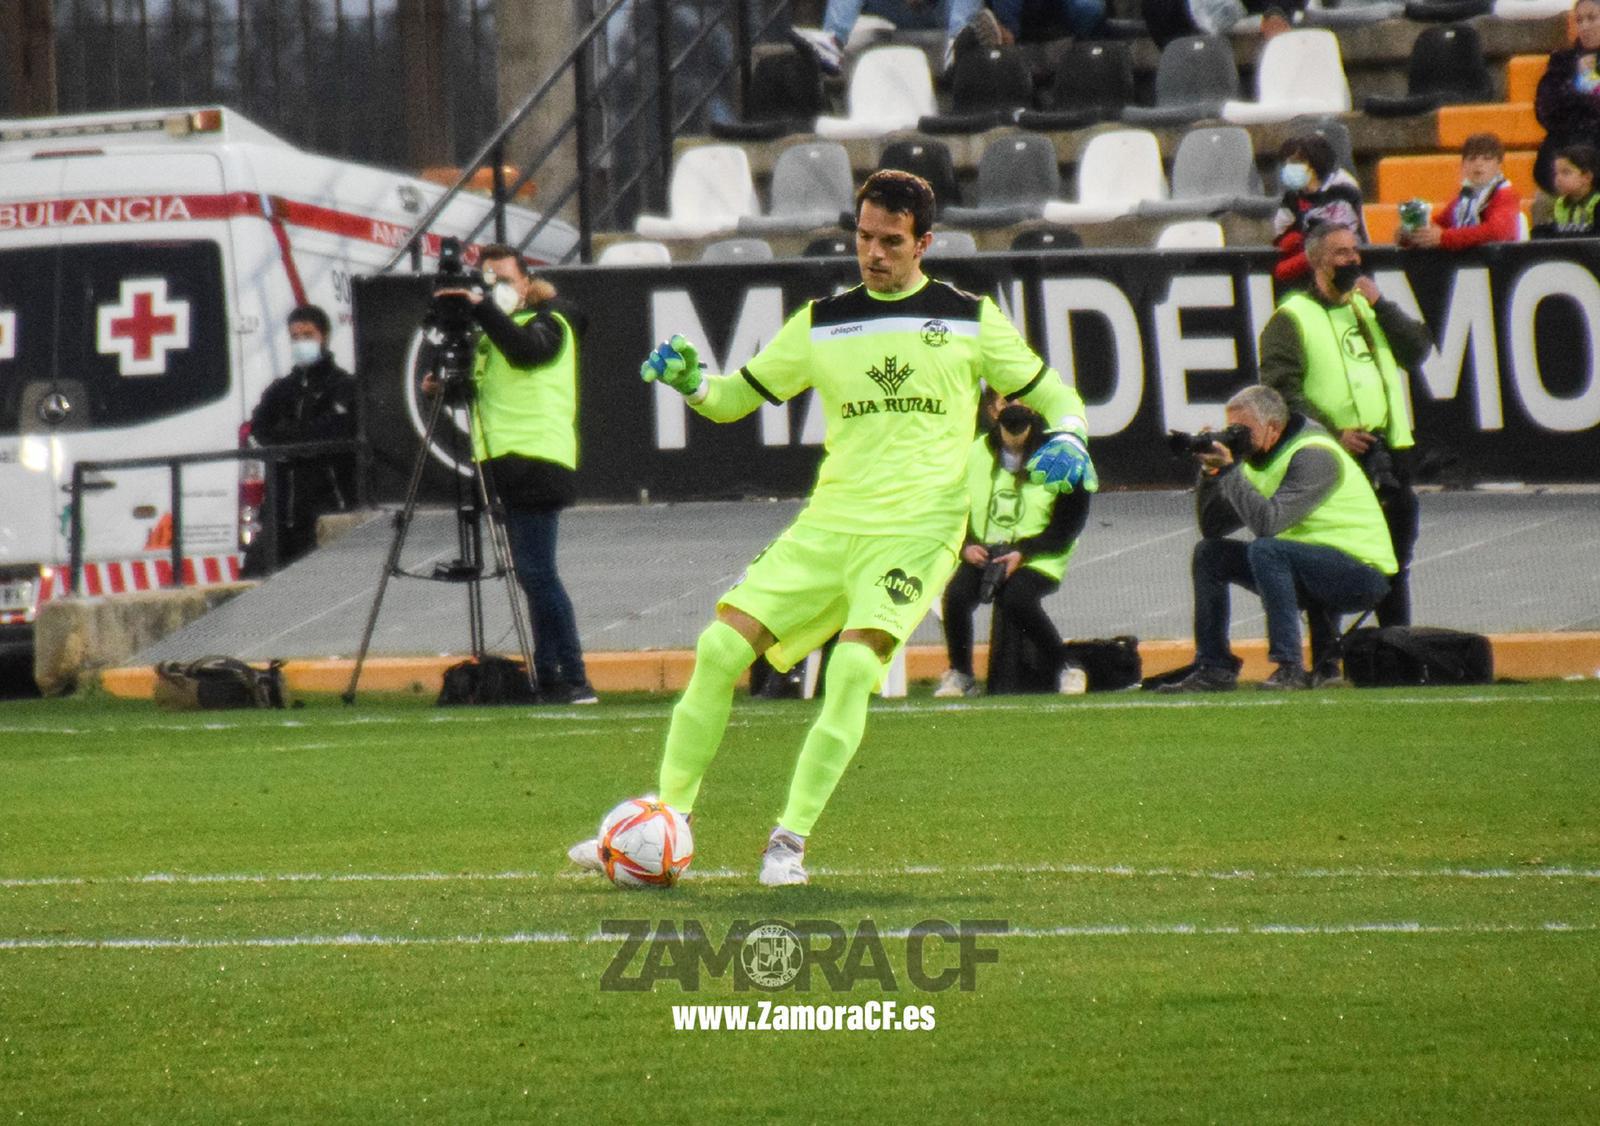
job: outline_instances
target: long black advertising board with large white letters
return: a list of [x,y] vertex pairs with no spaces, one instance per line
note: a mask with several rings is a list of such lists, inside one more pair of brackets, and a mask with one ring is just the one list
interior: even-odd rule
[[[1373,250],[1384,296],[1419,315],[1438,349],[1411,373],[1418,445],[1475,481],[1600,480],[1600,242],[1517,243],[1472,253]],[[1270,251],[984,254],[928,274],[984,293],[1090,408],[1106,488],[1178,485],[1189,467],[1170,429],[1221,422],[1227,397],[1254,381],[1254,341],[1272,313]],[[813,296],[856,282],[850,259],[749,266],[570,267],[549,277],[590,317],[582,341],[584,499],[800,496],[822,440],[810,393],[715,425],[678,395],[646,385],[638,365],[683,333],[712,371],[738,369]],[[357,361],[376,454],[374,496],[403,494],[424,405],[414,395],[418,323],[429,283],[360,278]],[[454,432],[462,416],[442,425]],[[430,459],[424,496],[448,499]]]

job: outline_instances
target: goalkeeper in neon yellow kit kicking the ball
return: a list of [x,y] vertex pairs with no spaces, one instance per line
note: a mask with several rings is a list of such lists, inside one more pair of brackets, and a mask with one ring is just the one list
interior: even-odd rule
[[[981,382],[1048,421],[1053,433],[1027,464],[1035,481],[1061,491],[1098,486],[1078,393],[994,301],[923,275],[933,213],[926,181],[875,173],[856,195],[859,286],[806,304],[734,374],[702,373],[682,336],[640,369],[715,422],[808,387],[826,411],[811,499],[717,603],[661,760],[661,800],[693,811],[739,675],[763,653],[774,669],[792,669],[840,635],[821,715],[762,856],[768,886],[806,883],[805,841],[861,744],[867,699],[955,568]],[[602,867],[594,840],[568,856]]]

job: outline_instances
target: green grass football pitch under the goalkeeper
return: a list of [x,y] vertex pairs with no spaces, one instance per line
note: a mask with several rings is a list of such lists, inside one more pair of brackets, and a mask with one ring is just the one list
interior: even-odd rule
[[[690,878],[568,873],[669,707],[0,705],[0,1121],[1600,1118],[1594,683],[875,702],[774,891],[814,710],[741,701]],[[603,988],[618,918],[870,921],[898,988]],[[925,920],[1010,934],[923,992]],[[672,1025],[883,998],[934,1028]]]

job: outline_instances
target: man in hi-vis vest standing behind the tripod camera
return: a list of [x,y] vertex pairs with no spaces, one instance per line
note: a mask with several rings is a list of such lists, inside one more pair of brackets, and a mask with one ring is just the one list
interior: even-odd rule
[[[574,497],[578,337],[587,320],[530,275],[510,246],[486,246],[482,266],[488,294],[475,286],[434,294],[470,301],[483,329],[472,366],[472,457],[504,510],[517,582],[528,595],[539,699],[594,704],[578,619],[555,571],[557,520]],[[424,390],[437,389],[424,381]]]

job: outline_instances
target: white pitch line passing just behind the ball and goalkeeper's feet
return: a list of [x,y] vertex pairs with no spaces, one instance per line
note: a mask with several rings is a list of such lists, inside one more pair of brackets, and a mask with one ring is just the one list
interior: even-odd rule
[[[973,864],[965,867],[914,864],[888,868],[813,868],[813,875],[835,880],[971,876],[971,875],[1066,875],[1114,876],[1123,880],[1600,880],[1600,868],[1538,865],[1525,868],[1176,868],[1131,864]],[[533,883],[539,880],[586,880],[590,872],[149,872],[125,876],[11,876],[0,888],[62,888],[91,884],[272,884],[272,883]],[[754,872],[739,868],[693,868],[686,880],[747,880]]]

